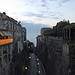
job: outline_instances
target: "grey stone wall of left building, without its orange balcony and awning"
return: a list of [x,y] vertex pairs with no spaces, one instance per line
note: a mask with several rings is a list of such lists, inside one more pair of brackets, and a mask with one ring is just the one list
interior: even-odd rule
[[[7,49],[7,58],[5,59],[7,63],[3,61],[3,58],[2,60],[0,59],[0,75],[9,75],[11,74],[11,69],[13,69],[10,65],[12,57],[23,50],[24,40],[26,39],[24,39],[24,37],[26,37],[26,29],[24,29],[24,31],[21,24],[15,19],[7,16],[5,12],[0,13],[0,29],[9,31],[9,33],[11,33],[10,38],[13,38],[13,43],[9,44],[10,47],[8,46]],[[0,46],[0,53],[3,52],[2,48],[4,48],[4,46],[6,45]],[[0,57],[3,57],[3,54],[0,55]]]

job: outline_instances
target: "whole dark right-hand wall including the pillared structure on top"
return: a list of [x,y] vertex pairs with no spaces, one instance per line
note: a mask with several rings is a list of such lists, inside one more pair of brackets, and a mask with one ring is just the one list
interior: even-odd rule
[[[45,28],[44,28],[45,29]],[[41,59],[47,75],[75,74],[75,23],[66,26],[62,37],[37,36],[37,56]]]

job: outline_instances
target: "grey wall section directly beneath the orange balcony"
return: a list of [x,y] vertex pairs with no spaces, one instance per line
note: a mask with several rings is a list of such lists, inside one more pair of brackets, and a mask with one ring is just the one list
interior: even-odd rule
[[9,75],[9,64],[12,59],[12,44],[0,46],[0,73]]

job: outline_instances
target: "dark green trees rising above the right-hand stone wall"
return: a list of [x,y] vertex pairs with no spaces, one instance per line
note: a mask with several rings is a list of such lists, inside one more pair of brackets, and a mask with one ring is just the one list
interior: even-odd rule
[[45,36],[58,36],[58,37],[61,37],[63,27],[66,26],[66,25],[70,25],[70,22],[69,22],[69,20],[64,19],[63,21],[58,22],[56,24],[56,26],[53,27],[53,29],[44,31],[44,35]]

